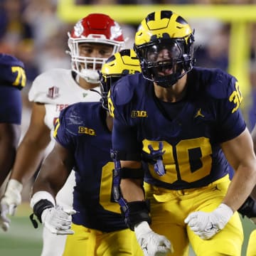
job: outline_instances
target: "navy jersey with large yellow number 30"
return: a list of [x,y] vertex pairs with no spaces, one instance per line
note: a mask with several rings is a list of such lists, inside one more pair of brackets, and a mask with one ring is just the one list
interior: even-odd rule
[[155,186],[197,188],[225,176],[229,165],[220,144],[246,127],[233,76],[193,68],[186,90],[180,102],[161,102],[142,74],[122,78],[111,90],[113,149],[121,160],[145,160],[145,181]]

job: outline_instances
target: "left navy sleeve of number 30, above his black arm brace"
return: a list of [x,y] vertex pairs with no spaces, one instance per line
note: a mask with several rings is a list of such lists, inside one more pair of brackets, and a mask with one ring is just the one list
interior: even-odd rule
[[118,84],[116,86],[112,88],[110,93],[112,115],[114,116],[112,149],[117,152],[118,160],[139,161],[141,159],[142,143],[137,141],[134,124],[129,118],[129,103],[132,95],[129,96],[130,91],[124,91],[127,88],[125,85],[122,85],[122,90],[118,87]]

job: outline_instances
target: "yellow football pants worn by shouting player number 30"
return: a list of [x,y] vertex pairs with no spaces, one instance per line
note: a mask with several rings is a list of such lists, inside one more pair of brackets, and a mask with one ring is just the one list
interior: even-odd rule
[[[228,176],[225,176],[208,186],[181,191],[144,184],[146,197],[151,201],[151,228],[169,238],[174,247],[171,256],[188,256],[189,242],[197,256],[241,255],[243,230],[238,213],[210,240],[202,240],[184,223],[193,211],[215,210],[223,201],[229,183]],[[143,255],[142,250],[134,255]]]

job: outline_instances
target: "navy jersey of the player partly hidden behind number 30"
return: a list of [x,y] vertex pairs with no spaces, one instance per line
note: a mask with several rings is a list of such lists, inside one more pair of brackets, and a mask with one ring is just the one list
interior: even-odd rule
[[55,139],[75,157],[73,223],[110,232],[127,228],[111,196],[111,133],[100,102],[80,102],[60,112]]

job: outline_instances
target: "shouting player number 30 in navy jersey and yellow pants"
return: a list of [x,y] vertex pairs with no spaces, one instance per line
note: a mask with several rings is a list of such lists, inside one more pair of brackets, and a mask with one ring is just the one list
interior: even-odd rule
[[252,138],[238,81],[194,67],[193,42],[178,14],[149,14],[134,43],[142,73],[111,88],[114,196],[144,255],[171,254],[169,241],[177,256],[188,242],[198,256],[241,253],[237,210],[256,182]]

